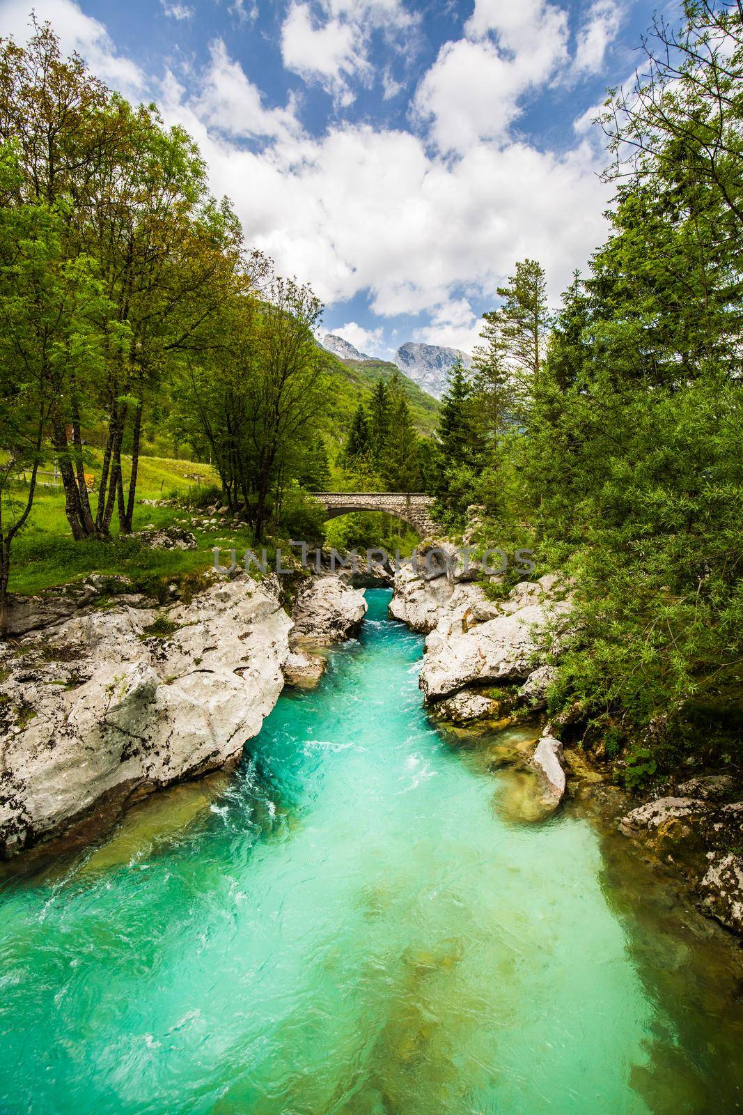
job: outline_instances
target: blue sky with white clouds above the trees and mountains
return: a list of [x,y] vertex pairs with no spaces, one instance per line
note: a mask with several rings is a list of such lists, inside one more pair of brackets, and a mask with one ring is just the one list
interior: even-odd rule
[[[516,260],[553,300],[606,235],[600,130],[646,0],[0,0],[196,137],[247,243],[389,356],[471,350]],[[674,10],[672,6],[671,10]]]

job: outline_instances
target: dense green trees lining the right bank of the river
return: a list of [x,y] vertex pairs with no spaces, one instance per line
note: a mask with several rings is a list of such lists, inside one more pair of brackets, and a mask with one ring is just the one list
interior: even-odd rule
[[[627,779],[693,745],[740,763],[743,726],[743,22],[658,21],[602,123],[610,235],[550,313],[525,260],[444,398],[434,474],[461,527],[530,545],[578,622],[550,712]],[[578,728],[576,728],[576,731]]]

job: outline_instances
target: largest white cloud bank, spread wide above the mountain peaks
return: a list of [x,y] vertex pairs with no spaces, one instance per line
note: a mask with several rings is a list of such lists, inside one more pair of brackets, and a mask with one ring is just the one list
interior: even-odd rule
[[[490,301],[527,255],[557,295],[605,233],[607,190],[585,143],[564,155],[481,145],[450,163],[410,133],[346,125],[254,152],[183,101],[165,109],[197,137],[248,242],[329,303],[368,290],[373,311],[393,317],[448,306],[454,290]],[[448,313],[452,334],[470,327]]]

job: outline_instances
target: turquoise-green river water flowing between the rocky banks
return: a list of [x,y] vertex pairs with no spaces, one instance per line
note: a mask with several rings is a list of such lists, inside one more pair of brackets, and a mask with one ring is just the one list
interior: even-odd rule
[[515,818],[366,597],[236,773],[2,876],[1,1115],[739,1109],[723,931],[575,807]]

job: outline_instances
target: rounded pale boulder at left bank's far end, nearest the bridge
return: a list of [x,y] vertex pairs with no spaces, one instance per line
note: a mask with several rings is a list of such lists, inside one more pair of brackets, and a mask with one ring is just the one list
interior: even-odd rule
[[366,601],[340,576],[313,578],[300,590],[293,610],[292,646],[325,647],[358,633]]

